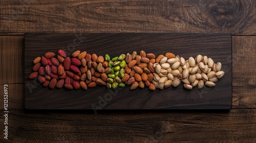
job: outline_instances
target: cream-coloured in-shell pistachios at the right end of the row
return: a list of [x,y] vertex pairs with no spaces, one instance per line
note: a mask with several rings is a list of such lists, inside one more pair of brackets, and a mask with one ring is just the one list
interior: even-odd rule
[[153,65],[156,71],[153,84],[160,89],[170,85],[177,87],[181,82],[188,90],[195,86],[202,89],[204,83],[214,87],[215,82],[224,76],[224,71],[221,71],[222,64],[215,63],[207,56],[198,55],[195,59],[189,57],[185,60],[178,55],[170,58],[160,55],[158,59],[160,61]]

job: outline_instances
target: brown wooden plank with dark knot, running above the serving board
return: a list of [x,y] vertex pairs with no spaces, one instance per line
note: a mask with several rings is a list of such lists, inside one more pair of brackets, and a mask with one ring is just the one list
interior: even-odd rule
[[225,32],[256,34],[256,1],[0,2],[0,33]]

